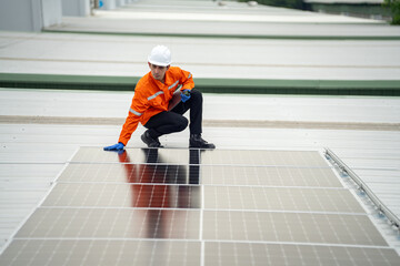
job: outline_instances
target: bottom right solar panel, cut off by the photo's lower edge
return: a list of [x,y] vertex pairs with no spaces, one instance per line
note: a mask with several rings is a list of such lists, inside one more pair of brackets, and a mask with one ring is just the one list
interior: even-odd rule
[[[204,265],[398,265],[387,248],[264,243],[206,243]],[[218,262],[218,263],[216,263]]]

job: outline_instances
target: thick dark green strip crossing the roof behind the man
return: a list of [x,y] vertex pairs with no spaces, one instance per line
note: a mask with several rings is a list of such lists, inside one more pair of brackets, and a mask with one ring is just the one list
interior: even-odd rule
[[[134,91],[140,76],[0,73],[0,88]],[[206,93],[400,96],[400,80],[196,78]]]

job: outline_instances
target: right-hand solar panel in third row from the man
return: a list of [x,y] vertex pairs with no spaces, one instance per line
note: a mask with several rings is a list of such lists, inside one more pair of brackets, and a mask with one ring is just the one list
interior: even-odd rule
[[207,209],[364,213],[347,190],[204,186]]

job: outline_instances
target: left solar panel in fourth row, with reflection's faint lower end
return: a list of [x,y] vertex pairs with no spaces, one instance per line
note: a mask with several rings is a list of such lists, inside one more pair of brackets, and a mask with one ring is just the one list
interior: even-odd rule
[[199,221],[190,209],[41,207],[16,237],[198,239]]

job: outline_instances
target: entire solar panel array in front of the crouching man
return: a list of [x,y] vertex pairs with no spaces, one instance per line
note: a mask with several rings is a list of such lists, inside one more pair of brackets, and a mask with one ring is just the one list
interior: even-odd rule
[[318,152],[82,147],[1,265],[399,265]]

